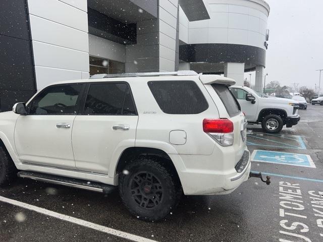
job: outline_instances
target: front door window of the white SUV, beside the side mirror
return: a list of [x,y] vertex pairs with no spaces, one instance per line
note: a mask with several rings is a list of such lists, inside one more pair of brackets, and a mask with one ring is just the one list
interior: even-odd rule
[[29,114],[76,114],[83,84],[55,85],[46,88],[32,100]]

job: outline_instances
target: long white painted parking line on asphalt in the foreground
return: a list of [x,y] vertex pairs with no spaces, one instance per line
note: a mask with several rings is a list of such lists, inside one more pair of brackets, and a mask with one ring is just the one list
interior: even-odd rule
[[126,232],[123,232],[123,231],[120,231],[120,230],[117,230],[117,229],[113,229],[113,228],[105,227],[105,226],[98,225],[98,224],[95,224],[95,223],[91,223],[91,222],[88,222],[88,221],[85,221],[85,220],[82,220],[82,219],[79,219],[79,218],[74,218],[74,217],[71,217],[71,216],[68,216],[68,215],[53,212],[53,211],[50,211],[50,210],[47,210],[47,209],[44,209],[44,208],[39,208],[39,207],[34,206],[34,205],[30,205],[30,204],[27,204],[27,203],[22,203],[22,202],[19,202],[19,201],[13,200],[13,199],[9,199],[9,198],[5,198],[5,197],[2,197],[2,196],[0,196],[0,201],[4,202],[4,203],[12,204],[14,206],[18,206],[18,207],[21,207],[21,208],[29,209],[29,210],[35,211],[37,213],[41,213],[41,214],[45,214],[45,215],[55,217],[55,218],[58,218],[58,219],[61,219],[61,220],[65,220],[65,221],[68,221],[68,222],[71,222],[71,223],[75,223],[75,224],[78,224],[78,225],[81,225],[81,226],[84,226],[84,227],[92,228],[92,229],[98,230],[100,232],[109,233],[109,234],[112,234],[112,235],[115,235],[115,236],[118,236],[118,237],[130,239],[132,241],[137,241],[137,242],[156,242],[155,240],[151,240],[149,238],[140,237],[140,236],[137,236],[137,235],[134,235],[134,234],[131,234],[131,233],[126,233]]

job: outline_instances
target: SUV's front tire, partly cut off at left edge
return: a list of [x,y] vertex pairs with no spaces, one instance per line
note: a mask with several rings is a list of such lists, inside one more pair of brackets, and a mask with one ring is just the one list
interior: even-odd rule
[[0,147],[0,186],[8,186],[17,178],[17,169],[8,151]]

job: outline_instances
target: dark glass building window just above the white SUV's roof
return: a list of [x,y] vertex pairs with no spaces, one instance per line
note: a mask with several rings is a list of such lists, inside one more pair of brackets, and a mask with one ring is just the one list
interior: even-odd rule
[[125,64],[104,59],[100,57],[90,56],[90,76],[94,74],[119,74],[125,73]]

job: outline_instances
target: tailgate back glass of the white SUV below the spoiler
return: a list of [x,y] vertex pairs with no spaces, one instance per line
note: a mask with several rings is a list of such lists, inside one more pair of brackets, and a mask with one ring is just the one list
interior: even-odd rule
[[230,117],[233,117],[240,113],[240,105],[237,100],[230,92],[229,88],[226,85],[222,84],[211,84],[214,90],[216,90],[220,99],[222,100],[224,106],[226,107],[228,114]]

